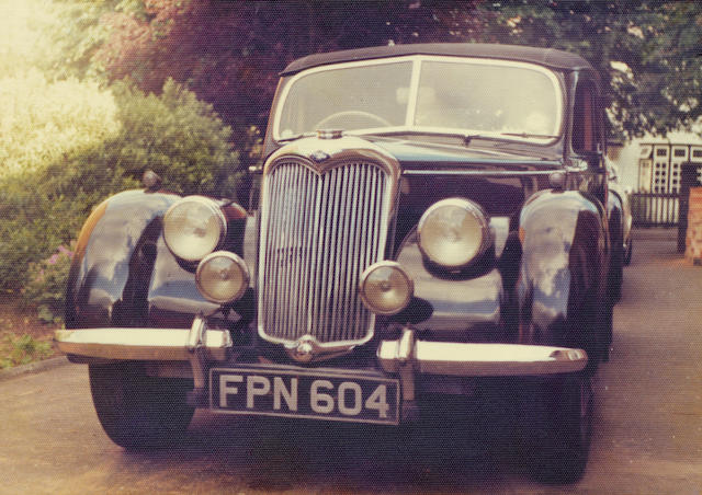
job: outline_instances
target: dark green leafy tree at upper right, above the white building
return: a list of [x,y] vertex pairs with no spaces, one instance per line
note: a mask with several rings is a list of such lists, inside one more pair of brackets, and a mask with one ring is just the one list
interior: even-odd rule
[[[454,20],[476,12],[456,9]],[[613,131],[690,129],[702,116],[702,4],[694,1],[501,1],[478,7],[472,39],[578,53],[600,72]]]

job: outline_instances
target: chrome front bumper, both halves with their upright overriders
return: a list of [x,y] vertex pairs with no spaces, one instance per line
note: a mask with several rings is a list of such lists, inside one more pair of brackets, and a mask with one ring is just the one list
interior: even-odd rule
[[[195,403],[204,405],[207,389],[224,387],[234,391],[223,372],[233,365],[236,348],[226,330],[208,329],[197,316],[191,329],[81,329],[59,330],[55,334],[58,348],[72,362],[102,364],[118,360],[189,361],[192,368]],[[377,372],[355,373],[361,379],[395,379],[399,384],[397,403],[401,411],[397,419],[408,418],[415,411],[415,380],[422,375],[446,377],[521,377],[573,373],[585,369],[587,353],[582,349],[523,344],[471,344],[418,339],[410,327],[400,338],[382,341],[377,348]],[[260,373],[273,376],[312,375],[304,367],[257,365]],[[213,370],[218,370],[212,379]],[[346,376],[350,370],[327,369],[330,376]],[[213,380],[208,387],[208,373]],[[369,377],[364,377],[369,375]],[[235,376],[229,379],[241,381]],[[223,381],[225,380],[225,381]],[[261,379],[263,380],[263,379]],[[272,381],[271,381],[272,383]],[[325,381],[327,383],[327,381]],[[258,387],[258,389],[256,389]],[[267,388],[268,387],[268,388]],[[254,383],[254,395],[272,394],[267,383]],[[211,390],[212,392],[212,390]],[[211,407],[217,410],[218,398],[211,393]],[[250,394],[249,394],[250,400]],[[230,412],[230,411],[220,411]],[[303,416],[307,417],[307,416]]]

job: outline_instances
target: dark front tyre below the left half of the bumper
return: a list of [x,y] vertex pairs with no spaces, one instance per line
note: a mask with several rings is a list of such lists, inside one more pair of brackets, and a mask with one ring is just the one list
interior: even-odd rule
[[192,380],[149,377],[143,365],[132,361],[91,365],[89,375],[98,418],[116,445],[166,447],[188,429],[194,413],[186,403]]

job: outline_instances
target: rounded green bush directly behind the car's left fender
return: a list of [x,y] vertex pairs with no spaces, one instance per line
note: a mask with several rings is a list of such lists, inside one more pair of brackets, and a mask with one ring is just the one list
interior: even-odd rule
[[231,129],[212,105],[172,79],[158,96],[129,80],[112,89],[122,129],[105,145],[106,165],[133,179],[150,169],[177,193],[235,198],[238,156],[229,143]]

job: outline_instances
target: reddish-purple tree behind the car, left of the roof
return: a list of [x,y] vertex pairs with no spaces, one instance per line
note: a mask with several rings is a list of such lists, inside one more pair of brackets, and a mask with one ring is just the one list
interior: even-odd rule
[[[441,2],[220,2],[147,0],[103,18],[111,37],[95,54],[111,80],[144,91],[186,84],[250,149],[264,129],[278,72],[295,58],[342,48],[444,41]],[[465,4],[471,4],[467,2]],[[140,7],[139,7],[140,5]]]

